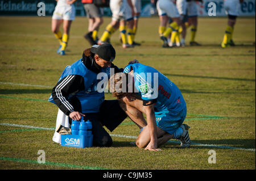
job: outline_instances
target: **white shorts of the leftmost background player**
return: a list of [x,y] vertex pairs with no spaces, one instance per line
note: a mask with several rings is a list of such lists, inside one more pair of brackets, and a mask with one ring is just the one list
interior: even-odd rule
[[74,5],[56,6],[52,15],[52,19],[74,20],[76,9]]

